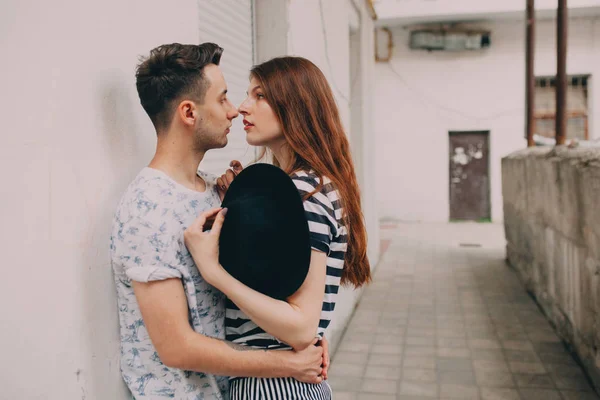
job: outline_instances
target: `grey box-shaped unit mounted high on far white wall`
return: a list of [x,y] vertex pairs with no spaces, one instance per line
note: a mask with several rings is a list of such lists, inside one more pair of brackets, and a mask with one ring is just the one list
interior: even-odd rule
[[421,50],[465,51],[490,47],[490,32],[418,30],[410,34],[410,48]]

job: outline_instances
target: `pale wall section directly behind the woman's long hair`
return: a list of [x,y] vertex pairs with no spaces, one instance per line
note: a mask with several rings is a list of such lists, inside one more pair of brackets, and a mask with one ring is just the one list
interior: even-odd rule
[[[308,58],[323,71],[333,89],[342,122],[349,133],[361,183],[369,235],[368,254],[374,267],[379,258],[379,216],[375,200],[375,147],[371,134],[370,101],[374,38],[373,21],[366,2],[290,0],[284,3],[265,0],[256,4],[258,61],[283,54]],[[351,48],[353,59],[358,60],[354,66],[357,68],[353,67],[352,70],[352,87]],[[362,106],[357,108],[359,101],[358,104]],[[339,342],[360,293],[350,288],[340,291],[334,320],[328,330],[333,348]]]

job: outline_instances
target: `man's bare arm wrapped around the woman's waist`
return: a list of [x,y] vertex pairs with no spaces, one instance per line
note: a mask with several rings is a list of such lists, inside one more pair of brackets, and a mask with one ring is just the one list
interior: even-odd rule
[[180,279],[133,282],[144,324],[161,361],[173,368],[223,376],[293,377],[308,383],[322,378],[321,347],[301,352],[249,350],[196,333]]

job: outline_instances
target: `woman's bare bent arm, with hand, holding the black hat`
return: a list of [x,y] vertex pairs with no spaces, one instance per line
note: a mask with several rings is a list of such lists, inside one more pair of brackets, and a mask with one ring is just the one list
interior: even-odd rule
[[[200,273],[265,332],[296,350],[308,347],[319,326],[325,293],[327,255],[313,250],[308,274],[300,289],[287,302],[275,300],[242,284],[219,264],[218,241],[225,212],[219,212],[219,209],[205,212],[185,231],[186,246]],[[212,229],[204,232],[206,220],[217,213]]]

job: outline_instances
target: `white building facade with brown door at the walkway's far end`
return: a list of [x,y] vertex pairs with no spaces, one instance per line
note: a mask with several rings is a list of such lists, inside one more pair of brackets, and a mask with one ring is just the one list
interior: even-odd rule
[[[525,1],[379,0],[393,50],[376,63],[381,217],[501,222],[500,160],[525,140]],[[569,2],[569,131],[600,138],[600,1]],[[553,135],[556,2],[536,1],[537,133]],[[468,22],[465,22],[468,21]],[[489,33],[489,46],[411,49],[416,31]],[[449,33],[448,33],[449,34]],[[378,54],[388,36],[378,31]],[[584,136],[586,135],[586,136]]]

